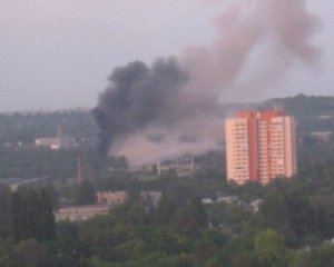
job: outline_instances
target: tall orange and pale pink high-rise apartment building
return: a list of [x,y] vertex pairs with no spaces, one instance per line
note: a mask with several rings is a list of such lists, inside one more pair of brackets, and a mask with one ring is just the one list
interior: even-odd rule
[[296,174],[294,118],[283,111],[239,111],[227,119],[227,179],[267,184]]

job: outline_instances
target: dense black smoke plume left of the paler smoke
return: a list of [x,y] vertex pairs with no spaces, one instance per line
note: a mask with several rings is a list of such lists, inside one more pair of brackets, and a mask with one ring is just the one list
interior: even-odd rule
[[116,68],[92,115],[100,129],[99,154],[116,141],[150,125],[171,123],[178,116],[179,91],[187,82],[176,59],[159,59],[151,67],[135,61]]

